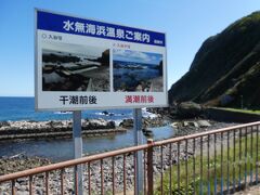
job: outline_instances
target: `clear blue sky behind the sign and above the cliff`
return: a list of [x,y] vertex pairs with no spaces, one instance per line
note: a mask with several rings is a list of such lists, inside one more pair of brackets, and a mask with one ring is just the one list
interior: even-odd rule
[[209,36],[260,10],[260,0],[1,0],[0,96],[34,95],[34,9],[165,31],[168,87]]

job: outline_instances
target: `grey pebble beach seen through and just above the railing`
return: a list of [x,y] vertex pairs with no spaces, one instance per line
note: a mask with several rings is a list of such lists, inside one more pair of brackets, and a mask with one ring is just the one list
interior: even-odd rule
[[[179,122],[183,122],[183,121],[179,121]],[[184,123],[184,122],[183,122]],[[230,127],[230,126],[234,126],[235,123],[225,123],[225,122],[216,122],[216,121],[210,121],[211,126],[210,127],[205,127],[205,128],[198,128],[198,127],[195,127],[195,126],[192,126],[191,125],[192,122],[190,122],[190,126],[186,126],[184,129],[185,130],[179,130],[180,132],[184,131],[185,133],[195,133],[195,132],[202,132],[202,131],[208,131],[208,130],[212,130],[212,129],[219,129],[219,128],[224,128],[224,127]],[[183,134],[183,133],[182,133]],[[224,141],[225,141],[225,136],[224,136]],[[204,142],[206,143],[207,140],[204,139]],[[210,142],[213,142],[212,139],[209,140]],[[198,145],[200,144],[199,140],[196,141],[196,146],[197,147]],[[220,145],[220,136],[217,138],[217,144]],[[196,155],[197,152],[195,152],[195,155]],[[180,160],[183,160],[183,159],[186,159],[186,158],[190,158],[194,155],[194,151],[193,151],[193,144],[192,143],[188,143],[187,145],[187,151],[185,151],[185,146],[184,146],[184,143],[181,144],[180,146]],[[18,157],[17,157],[18,158]],[[14,158],[13,158],[14,159]],[[5,169],[12,169],[10,168],[9,164],[11,164],[11,161],[15,161],[13,159],[8,159],[5,158],[4,160],[3,159],[0,159],[0,165],[1,167],[4,167]],[[36,159],[40,159],[40,158],[37,158]],[[174,164],[178,164],[178,157],[177,157],[177,145],[173,144],[172,146],[172,160],[169,161],[169,147],[165,146],[164,150],[162,150],[162,168],[161,168],[161,164],[160,164],[160,148],[157,147],[155,148],[154,151],[154,171],[155,171],[155,174],[159,174],[161,171],[166,170],[169,168],[169,166],[171,165],[174,165]],[[24,160],[24,158],[21,158],[20,160]],[[20,161],[17,160],[17,161]],[[28,159],[25,159],[25,161],[28,161],[28,160],[31,160],[30,158]],[[123,167],[122,167],[122,156],[117,156],[115,158],[116,160],[116,168],[115,168],[115,176],[116,176],[116,188],[118,192],[122,191],[122,181],[123,181],[123,176],[122,176],[122,170],[123,170]],[[133,187],[133,180],[134,180],[134,177],[133,177],[133,154],[127,154],[127,157],[126,157],[126,172],[127,172],[127,188],[128,190],[131,190]],[[34,161],[34,158],[32,158],[32,161]],[[42,165],[48,165],[50,161],[46,161],[46,159],[40,159],[40,161],[42,161]],[[1,164],[2,162],[2,164]],[[22,167],[22,164],[20,162],[16,162],[17,166],[11,166],[11,167],[18,167],[20,170],[23,170]],[[26,165],[26,164],[25,164]],[[29,165],[29,162],[27,164]],[[91,190],[93,192],[96,192],[99,193],[99,188],[101,187],[101,181],[100,181],[100,161],[93,161],[91,162]],[[24,169],[27,169],[28,167],[24,167]],[[110,192],[110,187],[112,187],[112,159],[108,158],[108,159],[104,159],[103,161],[103,171],[104,171],[104,191],[105,192]],[[83,167],[84,169],[84,190],[88,191],[88,186],[87,186],[87,183],[88,183],[88,167],[84,166]],[[17,171],[14,169],[12,169],[13,171]],[[4,170],[1,170],[2,173]],[[74,179],[74,176],[73,176],[73,169],[66,169],[65,171],[65,191],[66,191],[66,194],[72,194],[74,192],[74,186],[73,186],[73,179]],[[8,173],[8,170],[4,172],[4,173]],[[27,185],[27,182],[28,179],[20,179],[15,186],[18,188],[18,193],[23,194],[23,193],[27,193],[28,192],[28,185]],[[57,194],[58,191],[60,191],[60,172],[52,172],[50,174],[50,193],[51,194]],[[37,176],[35,178],[35,191],[36,191],[36,194],[43,194],[44,193],[44,185],[43,185],[43,176]],[[2,194],[4,194],[4,192],[6,192],[6,188],[10,186],[10,184],[2,184],[0,185],[0,192]]]

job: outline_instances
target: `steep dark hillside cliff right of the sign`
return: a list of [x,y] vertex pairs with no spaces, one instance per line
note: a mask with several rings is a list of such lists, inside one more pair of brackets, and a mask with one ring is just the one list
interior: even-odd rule
[[190,70],[169,90],[169,102],[260,108],[260,12],[208,38]]

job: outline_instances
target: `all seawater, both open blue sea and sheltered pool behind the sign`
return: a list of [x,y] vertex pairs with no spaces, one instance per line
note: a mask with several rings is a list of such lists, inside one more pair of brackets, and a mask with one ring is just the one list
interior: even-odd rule
[[[54,119],[72,119],[72,114],[41,112],[36,113],[34,98],[0,98],[0,121],[4,120],[54,120]],[[104,110],[87,110],[82,112],[82,118],[104,118],[115,120],[119,123],[123,118],[132,118],[132,109],[106,109],[113,114],[105,116]],[[143,109],[143,116],[151,116]],[[154,140],[168,139],[174,135],[174,129],[170,126],[151,128],[154,133]],[[116,148],[122,148],[134,145],[134,131],[129,129],[125,133],[112,134],[108,136],[83,138],[83,154],[94,154]],[[143,143],[146,138],[143,136]],[[0,158],[24,154],[26,156],[47,157],[53,161],[63,161],[74,158],[73,139],[55,139],[55,140],[24,140],[0,142]]]

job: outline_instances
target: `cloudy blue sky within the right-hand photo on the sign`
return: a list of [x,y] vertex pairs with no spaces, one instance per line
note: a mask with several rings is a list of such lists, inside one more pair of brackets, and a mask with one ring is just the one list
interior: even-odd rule
[[147,53],[147,52],[131,51],[131,50],[114,49],[113,58],[116,61],[123,61],[123,62],[135,62],[135,63],[159,65],[160,61],[162,60],[162,55],[158,53]]

